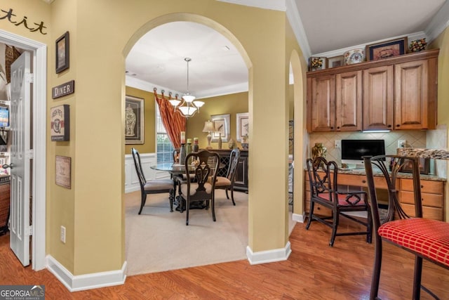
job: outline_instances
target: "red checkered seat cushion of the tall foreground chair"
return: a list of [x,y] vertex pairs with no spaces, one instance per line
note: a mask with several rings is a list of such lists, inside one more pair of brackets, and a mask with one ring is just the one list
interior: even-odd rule
[[449,223],[431,219],[402,219],[382,224],[379,235],[432,261],[449,266]]

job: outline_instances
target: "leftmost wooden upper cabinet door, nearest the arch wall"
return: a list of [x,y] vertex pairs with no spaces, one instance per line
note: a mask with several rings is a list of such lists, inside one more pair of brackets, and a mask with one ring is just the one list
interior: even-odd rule
[[335,76],[307,79],[309,132],[335,130]]

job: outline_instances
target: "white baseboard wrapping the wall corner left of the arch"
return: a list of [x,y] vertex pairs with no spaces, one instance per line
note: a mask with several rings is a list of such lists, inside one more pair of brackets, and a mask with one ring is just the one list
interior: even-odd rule
[[85,275],[73,275],[51,255],[46,256],[46,261],[48,270],[53,273],[53,275],[55,275],[55,277],[58,278],[70,292],[123,285],[126,280],[126,261],[123,263],[121,270]]

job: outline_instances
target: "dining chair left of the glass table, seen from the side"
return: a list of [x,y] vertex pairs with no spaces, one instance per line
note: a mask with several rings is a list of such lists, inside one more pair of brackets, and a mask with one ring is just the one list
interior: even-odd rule
[[139,214],[142,213],[145,202],[147,202],[147,195],[159,193],[169,193],[168,199],[170,200],[170,212],[172,212],[173,198],[175,197],[173,181],[171,179],[154,179],[152,181],[147,181],[145,175],[143,174],[142,162],[140,162],[140,154],[138,150],[131,148],[131,154],[133,154],[134,167],[136,173],[138,174],[140,184],[141,200]]

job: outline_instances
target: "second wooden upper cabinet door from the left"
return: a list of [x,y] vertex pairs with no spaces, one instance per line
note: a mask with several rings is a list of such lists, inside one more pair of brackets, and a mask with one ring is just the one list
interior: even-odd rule
[[335,76],[335,129],[362,129],[362,71]]

